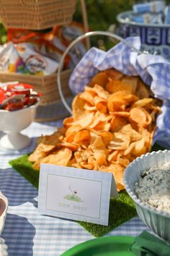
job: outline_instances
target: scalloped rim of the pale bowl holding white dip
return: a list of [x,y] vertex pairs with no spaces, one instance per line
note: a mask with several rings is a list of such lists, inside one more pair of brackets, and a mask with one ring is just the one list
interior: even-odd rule
[[[124,174],[124,177],[123,177],[123,180],[124,180],[124,184],[125,184],[125,189],[126,191],[128,192],[128,195],[130,195],[130,197],[132,197],[133,201],[139,205],[141,208],[144,208],[154,214],[157,214],[159,216],[164,216],[166,218],[170,218],[170,213],[166,213],[164,210],[157,210],[156,208],[148,205],[146,202],[143,202],[142,200],[140,200],[137,195],[135,195],[135,192],[133,192],[131,189],[130,189],[130,186],[128,184],[128,173],[130,172],[130,168],[132,166],[135,166],[138,161],[145,161],[146,158],[148,158],[150,155],[158,155],[158,154],[167,154],[169,153],[170,154],[170,150],[158,150],[158,151],[153,151],[151,153],[146,153],[145,155],[141,155],[140,157],[136,158],[133,162],[130,163],[130,165],[125,168],[125,174]],[[143,170],[144,171],[144,170]]]

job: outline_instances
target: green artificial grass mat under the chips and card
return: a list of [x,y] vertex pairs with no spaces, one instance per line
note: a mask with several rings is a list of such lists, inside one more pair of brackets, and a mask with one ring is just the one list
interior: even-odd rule
[[[10,161],[9,164],[18,171],[19,174],[22,174],[24,178],[38,188],[39,171],[32,168],[32,163],[28,161],[28,156],[28,154],[22,155],[22,157]],[[127,192],[122,191],[119,193],[118,199],[113,197],[110,198],[108,226],[87,223],[84,221],[78,221],[78,223],[93,236],[98,237],[106,234],[125,221],[128,221],[130,218],[133,218],[136,214],[133,200],[129,197]]]

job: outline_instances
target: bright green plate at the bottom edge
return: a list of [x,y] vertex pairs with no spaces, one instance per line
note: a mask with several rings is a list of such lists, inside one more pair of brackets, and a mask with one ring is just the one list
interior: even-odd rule
[[78,244],[61,256],[134,256],[129,250],[134,241],[133,236],[104,236]]

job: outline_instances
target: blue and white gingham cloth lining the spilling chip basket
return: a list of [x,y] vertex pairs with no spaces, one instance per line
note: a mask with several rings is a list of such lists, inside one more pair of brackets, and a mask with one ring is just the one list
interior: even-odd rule
[[[131,46],[140,50],[140,38],[126,39]],[[157,98],[164,101],[162,113],[157,119],[157,129],[153,139],[170,148],[170,62],[162,56],[138,54],[125,43],[119,43],[105,52],[91,48],[73,70],[69,87],[73,93],[80,93],[91,77],[97,72],[115,68],[123,74],[140,76]]]

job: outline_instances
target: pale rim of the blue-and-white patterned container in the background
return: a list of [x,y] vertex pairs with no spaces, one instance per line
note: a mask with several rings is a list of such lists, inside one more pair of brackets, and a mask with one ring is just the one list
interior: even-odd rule
[[126,11],[126,12],[120,12],[117,14],[116,19],[118,22],[125,24],[125,25],[135,25],[139,27],[155,27],[155,28],[170,28],[170,24],[154,24],[154,23],[139,23],[139,22],[133,22],[133,21],[127,21],[125,18],[123,18],[124,15],[129,16],[130,14],[133,14],[133,11]]

